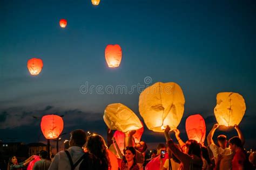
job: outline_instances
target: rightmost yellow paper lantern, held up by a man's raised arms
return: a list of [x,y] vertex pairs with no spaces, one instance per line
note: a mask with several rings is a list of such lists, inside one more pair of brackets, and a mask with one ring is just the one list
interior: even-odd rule
[[214,115],[220,125],[239,124],[244,117],[246,106],[244,98],[238,93],[224,92],[217,94]]

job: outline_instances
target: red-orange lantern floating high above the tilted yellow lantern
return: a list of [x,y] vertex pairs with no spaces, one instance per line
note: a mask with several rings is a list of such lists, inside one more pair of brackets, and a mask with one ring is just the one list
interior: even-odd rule
[[109,67],[118,67],[122,60],[122,49],[119,45],[107,45],[105,59]]

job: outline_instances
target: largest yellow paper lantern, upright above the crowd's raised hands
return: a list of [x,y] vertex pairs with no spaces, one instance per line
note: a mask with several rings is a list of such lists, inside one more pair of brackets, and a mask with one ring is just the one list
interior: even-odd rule
[[178,84],[157,82],[139,96],[139,113],[154,132],[164,132],[166,125],[177,128],[184,112],[185,98]]

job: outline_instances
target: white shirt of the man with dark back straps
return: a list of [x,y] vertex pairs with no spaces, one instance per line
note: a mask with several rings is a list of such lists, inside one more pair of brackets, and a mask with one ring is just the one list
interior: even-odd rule
[[[72,146],[68,149],[68,151],[72,158],[73,164],[75,164],[78,161],[78,159],[80,159],[84,155],[84,151],[82,147]],[[76,166],[75,170],[79,170],[80,163]],[[64,169],[70,170],[71,166],[70,166],[68,155],[66,155],[65,151],[60,151],[53,158],[51,165],[49,167],[49,170],[64,170]]]

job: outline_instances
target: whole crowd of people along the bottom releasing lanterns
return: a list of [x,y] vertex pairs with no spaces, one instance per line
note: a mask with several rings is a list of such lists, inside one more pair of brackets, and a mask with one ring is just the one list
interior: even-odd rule
[[[234,126],[238,136],[227,140],[223,134],[217,137],[217,143],[214,143],[213,134],[219,125],[214,124],[212,130],[207,136],[207,146],[198,143],[196,140],[187,140],[184,142],[180,138],[180,131],[174,129],[178,144],[173,142],[169,135],[170,127],[166,126],[164,136],[165,144],[157,146],[157,152],[152,152],[150,159],[145,159],[147,145],[144,141],[134,143],[133,134],[135,130],[125,133],[124,150],[120,151],[116,140],[112,138],[112,143],[107,146],[105,140],[99,134],[86,136],[84,130],[72,131],[69,148],[58,152],[52,161],[47,159],[48,153],[41,151],[40,159],[33,165],[33,170],[83,170],[83,169],[120,169],[120,170],[250,170],[256,169],[256,153],[251,153],[250,157],[243,148],[245,143],[244,136],[238,125]],[[111,134],[111,133],[109,133]],[[109,137],[108,137],[109,138]],[[227,144],[229,147],[227,147]],[[112,167],[109,157],[109,151],[112,151],[119,158],[118,167]],[[9,169],[21,169],[28,166],[34,155],[24,162],[17,162],[16,157],[9,160]]]

